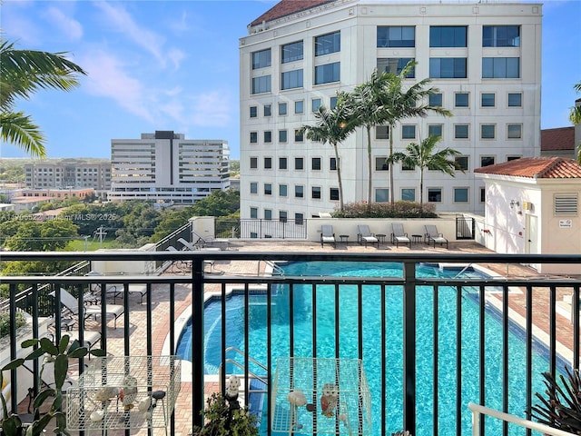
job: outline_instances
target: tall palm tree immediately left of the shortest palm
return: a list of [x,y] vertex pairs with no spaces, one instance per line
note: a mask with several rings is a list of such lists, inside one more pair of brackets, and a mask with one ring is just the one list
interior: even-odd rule
[[[396,125],[406,118],[416,116],[426,117],[428,113],[440,114],[443,116],[452,116],[452,114],[442,107],[430,106],[428,102],[429,95],[438,94],[439,90],[435,87],[426,86],[431,82],[430,79],[420,80],[417,84],[409,86],[404,90],[404,84],[409,73],[416,67],[416,61],[409,63],[399,72],[384,73],[387,74],[384,86],[379,93],[380,103],[383,107],[382,123],[389,125],[389,157],[393,156],[393,136]],[[424,102],[418,104],[419,102]],[[393,168],[389,169],[389,201],[394,203],[393,193]]]

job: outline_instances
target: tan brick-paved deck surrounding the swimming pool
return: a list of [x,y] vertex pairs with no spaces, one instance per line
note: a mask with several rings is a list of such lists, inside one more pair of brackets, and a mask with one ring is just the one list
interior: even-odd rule
[[[363,246],[358,243],[337,243],[337,247],[333,247],[331,244],[325,244],[323,247],[320,243],[314,242],[296,242],[296,241],[232,241],[231,249],[238,250],[240,252],[312,252],[312,253],[325,253],[334,251],[347,251],[350,253],[369,253],[371,251],[383,251],[386,250],[389,253],[493,253],[487,250],[485,247],[474,242],[457,242],[449,243],[449,249],[445,247],[441,248],[437,246],[436,248],[424,244],[418,243],[413,244],[412,248],[409,249],[407,246],[395,247],[390,243],[380,244],[379,248],[375,246]],[[481,266],[487,268],[488,270],[497,273],[502,276],[510,277],[542,277],[542,275],[537,274],[531,268],[520,264],[480,264]],[[244,275],[256,275],[259,271],[259,263],[250,261],[241,262],[226,262],[226,261],[216,261],[213,265],[213,270],[215,272],[224,272],[228,275],[244,274]],[[261,268],[264,269],[265,264],[261,263]],[[209,268],[209,267],[208,267]],[[171,273],[176,274],[177,270],[173,270]],[[183,272],[185,273],[185,272]],[[218,285],[215,285],[216,287]],[[219,289],[212,289],[212,285],[206,287],[205,292],[218,291]],[[535,307],[534,312],[534,324],[538,329],[537,332],[543,334],[542,332],[548,332],[549,317],[548,317],[548,292],[542,292],[540,288],[536,288],[534,293]],[[557,301],[561,301],[563,296],[566,295],[567,290],[558,290],[556,295]],[[569,294],[572,292],[569,292]],[[493,299],[497,299],[497,303],[502,301],[501,294],[495,294]],[[508,295],[508,304],[511,309],[511,313],[518,318],[518,315],[524,316],[526,307],[526,292],[510,292]],[[167,296],[167,286],[160,285],[153,288],[153,355],[160,355],[163,352],[163,345],[166,342],[166,338],[169,332],[169,322],[167,321],[167,313],[169,312],[169,299]],[[192,303],[192,292],[190,286],[176,286],[175,287],[175,313],[176,317],[179,317],[182,312],[191,307]],[[146,342],[145,335],[143,334],[146,326],[146,312],[145,305],[140,304],[139,298],[134,295],[130,296],[130,310],[131,314],[131,336],[130,336],[130,354],[134,356],[146,355]],[[159,316],[157,316],[159,314]],[[560,315],[557,315],[557,318]],[[512,317],[512,315],[511,315]],[[123,319],[118,320],[118,328],[113,329],[113,322],[109,323],[109,329],[107,330],[107,351],[111,355],[123,355]],[[566,321],[565,318],[559,319],[557,321],[558,329],[556,332],[556,339],[563,347],[568,350],[572,349],[573,342],[573,327],[572,324]],[[93,329],[97,328],[97,325],[91,322],[87,322],[87,328]],[[217,383],[207,382],[205,385],[206,393],[211,393],[218,390]],[[176,418],[176,429],[173,434],[175,435],[187,435],[191,434],[191,422],[192,422],[192,401],[189,392],[192,391],[192,385],[189,382],[182,382],[182,391],[178,397],[178,403],[175,408],[175,418]],[[141,431],[131,431],[131,434],[146,434],[146,430]],[[123,434],[123,431],[109,431],[110,435]],[[153,434],[165,434],[163,429],[153,429]]]

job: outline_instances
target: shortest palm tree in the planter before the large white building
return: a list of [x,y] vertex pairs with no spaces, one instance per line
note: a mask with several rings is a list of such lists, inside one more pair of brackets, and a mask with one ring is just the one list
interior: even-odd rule
[[[394,153],[389,158],[389,163],[401,161],[406,166],[411,168],[419,167],[419,205],[423,205],[423,193],[424,193],[424,170],[440,171],[442,173],[447,173],[452,177],[456,176],[455,171],[458,170],[458,164],[454,160],[449,160],[450,157],[454,157],[460,154],[457,150],[453,150],[449,147],[442,150],[436,149],[436,144],[441,138],[439,136],[429,135],[428,138],[421,141],[419,144],[410,143],[406,147],[406,153]],[[462,173],[464,170],[459,169]]]

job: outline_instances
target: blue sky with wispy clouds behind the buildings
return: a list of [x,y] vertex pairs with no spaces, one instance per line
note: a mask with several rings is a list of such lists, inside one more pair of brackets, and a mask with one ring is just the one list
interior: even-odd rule
[[[225,139],[240,157],[239,38],[276,0],[3,0],[0,27],[17,48],[68,52],[88,73],[70,93],[39,91],[17,110],[49,157],[110,157],[111,139],[173,130]],[[428,2],[427,2],[428,3]],[[541,127],[570,125],[581,80],[581,0],[543,6]],[[0,157],[24,156],[0,144]]]

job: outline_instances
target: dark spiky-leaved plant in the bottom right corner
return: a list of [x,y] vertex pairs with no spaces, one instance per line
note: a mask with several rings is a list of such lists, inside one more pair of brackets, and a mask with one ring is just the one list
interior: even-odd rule
[[[554,429],[581,434],[581,378],[579,370],[565,367],[566,378],[559,374],[554,378],[543,372],[547,390],[535,393],[540,404],[531,408],[531,415],[542,424]],[[559,382],[560,381],[560,382]]]

